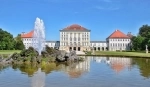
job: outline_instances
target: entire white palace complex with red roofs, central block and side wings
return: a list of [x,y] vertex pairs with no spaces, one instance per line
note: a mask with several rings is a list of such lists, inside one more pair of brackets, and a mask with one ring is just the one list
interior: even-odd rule
[[[33,44],[33,33],[23,33],[21,35],[25,48],[28,49]],[[123,51],[130,50],[131,32],[127,35],[120,30],[115,30],[106,41],[91,41],[91,30],[84,28],[81,25],[73,24],[60,30],[60,41],[46,41],[45,45],[49,47],[75,51]]]

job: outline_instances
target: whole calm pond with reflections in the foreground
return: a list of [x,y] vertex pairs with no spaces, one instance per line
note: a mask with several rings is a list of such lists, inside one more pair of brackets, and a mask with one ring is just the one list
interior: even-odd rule
[[149,87],[150,59],[85,57],[72,64],[0,64],[0,87]]

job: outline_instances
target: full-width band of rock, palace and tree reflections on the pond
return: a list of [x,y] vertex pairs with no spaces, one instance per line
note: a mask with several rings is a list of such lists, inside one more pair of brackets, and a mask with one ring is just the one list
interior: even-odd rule
[[[105,63],[111,67],[116,73],[121,73],[124,69],[131,70],[133,65],[137,65],[142,76],[150,78],[150,59],[143,58],[120,58],[120,57],[86,57],[85,61],[71,63],[71,64],[57,64],[57,63],[42,63],[38,64],[21,64],[12,65],[13,69],[19,69],[28,76],[33,76],[38,68],[45,74],[50,74],[52,71],[64,71],[71,78],[78,78],[81,75],[90,71],[90,61],[96,63]],[[5,66],[6,67],[6,66]],[[4,68],[4,67],[3,67]],[[3,69],[2,66],[0,70]]]

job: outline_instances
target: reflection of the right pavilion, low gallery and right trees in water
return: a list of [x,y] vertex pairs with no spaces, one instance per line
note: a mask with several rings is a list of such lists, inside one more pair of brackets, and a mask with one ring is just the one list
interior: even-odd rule
[[124,69],[129,71],[134,65],[139,67],[143,77],[150,78],[150,59],[145,58],[120,58],[120,57],[93,57],[97,63],[105,62],[116,73],[121,73]]

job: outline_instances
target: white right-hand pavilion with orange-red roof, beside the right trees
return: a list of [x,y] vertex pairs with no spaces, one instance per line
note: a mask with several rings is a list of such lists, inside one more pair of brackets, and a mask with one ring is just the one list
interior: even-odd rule
[[[129,34],[128,34],[129,35]],[[109,51],[130,50],[131,35],[128,36],[120,30],[115,30],[107,39],[107,46]]]

